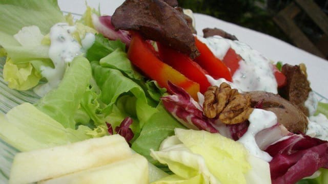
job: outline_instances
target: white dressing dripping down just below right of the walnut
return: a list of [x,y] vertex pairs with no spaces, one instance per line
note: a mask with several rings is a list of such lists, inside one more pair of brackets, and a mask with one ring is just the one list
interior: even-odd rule
[[265,128],[270,128],[277,124],[275,113],[263,109],[254,109],[249,118],[250,126],[245,134],[238,140],[249,150],[251,155],[259,157],[266,162],[270,162],[272,157],[265,151],[262,151],[256,144],[255,135]]

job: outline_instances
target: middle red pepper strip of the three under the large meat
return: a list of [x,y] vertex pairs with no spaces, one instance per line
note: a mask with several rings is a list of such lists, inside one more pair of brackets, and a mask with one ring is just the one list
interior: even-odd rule
[[208,75],[208,73],[189,56],[166,47],[159,42],[157,42],[157,47],[159,58],[181,74],[188,77],[190,80],[197,82],[200,86],[200,93],[205,93],[205,91],[211,86],[205,76],[206,74]]

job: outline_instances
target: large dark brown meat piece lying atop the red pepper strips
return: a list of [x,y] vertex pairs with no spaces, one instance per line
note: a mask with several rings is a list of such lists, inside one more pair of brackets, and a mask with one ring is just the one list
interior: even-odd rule
[[115,10],[111,20],[117,30],[137,31],[192,59],[199,55],[186,20],[161,0],[127,0]]

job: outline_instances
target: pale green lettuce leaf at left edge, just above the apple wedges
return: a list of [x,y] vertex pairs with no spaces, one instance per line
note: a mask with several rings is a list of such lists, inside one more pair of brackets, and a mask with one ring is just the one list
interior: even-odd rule
[[18,105],[6,115],[0,114],[0,138],[19,151],[90,139],[86,134],[88,130],[86,126],[79,126],[77,130],[65,128],[30,103]]

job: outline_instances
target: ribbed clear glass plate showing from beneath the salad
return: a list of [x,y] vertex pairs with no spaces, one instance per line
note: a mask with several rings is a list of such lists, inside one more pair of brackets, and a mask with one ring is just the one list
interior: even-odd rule
[[[64,12],[64,14],[67,13]],[[81,16],[75,13],[72,14],[75,19]],[[7,113],[11,108],[23,102],[35,103],[39,97],[32,90],[17,91],[8,87],[3,79],[4,64],[5,58],[0,58],[0,113]],[[315,94],[319,102],[328,103],[328,96],[325,97],[316,92]],[[0,184],[8,183],[12,160],[17,152],[17,149],[0,139]]]

